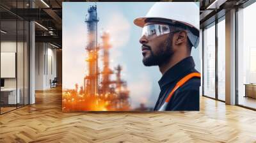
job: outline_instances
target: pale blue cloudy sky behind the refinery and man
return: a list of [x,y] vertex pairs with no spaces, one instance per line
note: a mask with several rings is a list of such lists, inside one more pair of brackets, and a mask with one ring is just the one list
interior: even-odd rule
[[[132,107],[138,107],[141,102],[148,107],[154,107],[160,91],[157,81],[161,78],[161,73],[157,66],[145,67],[143,65],[139,43],[141,28],[133,24],[133,20],[136,17],[145,16],[154,3],[97,3],[99,43],[101,31],[109,31],[113,45],[110,50],[111,67],[117,64],[123,66],[122,79],[127,80],[131,91]],[[79,86],[83,85],[86,71],[84,18],[88,7],[92,4],[95,3],[63,3],[64,88],[74,88],[76,83]],[[197,68],[200,69],[198,52],[193,52],[193,54],[196,56],[194,57],[196,64],[199,65]],[[113,79],[115,79],[114,75]]]

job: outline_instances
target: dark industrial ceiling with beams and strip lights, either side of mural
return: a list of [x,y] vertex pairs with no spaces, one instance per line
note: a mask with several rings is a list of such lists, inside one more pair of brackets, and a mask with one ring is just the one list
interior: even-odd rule
[[[62,2],[67,1],[74,0],[30,0],[30,3],[29,0],[1,0],[1,20],[4,21],[2,22],[3,24],[6,24],[4,27],[8,27],[10,31],[15,29],[15,22],[12,22],[13,20],[35,20],[37,22],[35,24],[36,41],[56,43],[56,45],[60,45],[61,47]],[[246,3],[246,1],[248,0],[200,0],[200,27],[202,28],[214,22],[216,13],[218,13],[218,17],[221,17],[221,15],[225,15],[226,10],[240,6]],[[15,34],[14,31],[13,34]]]

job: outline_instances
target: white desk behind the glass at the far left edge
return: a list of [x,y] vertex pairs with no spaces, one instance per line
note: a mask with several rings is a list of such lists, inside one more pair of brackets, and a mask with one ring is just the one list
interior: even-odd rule
[[16,104],[16,102],[20,103],[20,89],[18,88],[17,91],[18,94],[16,98],[16,88],[1,89],[1,101],[3,101],[4,104]]

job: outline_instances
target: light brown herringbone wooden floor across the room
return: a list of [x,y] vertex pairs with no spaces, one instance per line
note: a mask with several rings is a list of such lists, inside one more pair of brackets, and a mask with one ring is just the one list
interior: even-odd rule
[[200,112],[61,112],[61,90],[0,116],[0,142],[256,142],[256,112],[200,99]]

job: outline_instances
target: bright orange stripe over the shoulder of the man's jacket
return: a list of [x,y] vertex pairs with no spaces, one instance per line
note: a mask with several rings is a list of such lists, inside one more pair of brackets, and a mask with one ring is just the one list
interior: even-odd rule
[[179,82],[177,82],[177,84],[175,85],[175,87],[172,89],[171,93],[168,95],[168,97],[166,98],[165,102],[168,103],[170,101],[170,99],[172,98],[173,93],[183,84],[185,84],[189,79],[192,79],[193,77],[201,77],[200,73],[189,73],[188,75],[186,75],[185,77],[183,77],[181,80],[179,80]]

